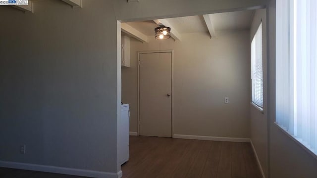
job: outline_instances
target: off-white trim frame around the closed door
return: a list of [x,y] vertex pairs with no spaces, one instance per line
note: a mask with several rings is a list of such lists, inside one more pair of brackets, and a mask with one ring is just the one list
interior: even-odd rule
[[174,137],[174,50],[151,50],[151,51],[138,51],[138,60],[137,60],[137,66],[138,66],[138,123],[137,123],[137,135],[140,135],[140,54],[148,54],[148,53],[165,53],[170,52],[171,53],[171,137]]

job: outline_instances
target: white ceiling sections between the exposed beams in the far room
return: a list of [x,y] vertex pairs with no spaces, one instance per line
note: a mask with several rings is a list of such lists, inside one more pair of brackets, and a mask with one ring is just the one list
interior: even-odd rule
[[[254,10],[225,12],[210,14],[210,19],[214,31],[227,30],[245,30],[249,29],[253,18]],[[207,25],[202,15],[168,18],[168,22],[180,34],[184,33],[208,33]],[[128,25],[135,28],[146,36],[154,36],[154,28],[158,25],[150,21],[127,22]],[[173,29],[171,29],[171,32]]]

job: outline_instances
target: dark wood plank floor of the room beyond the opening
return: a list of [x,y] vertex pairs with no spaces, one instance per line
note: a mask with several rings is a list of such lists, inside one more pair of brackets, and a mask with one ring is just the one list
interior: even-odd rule
[[250,143],[130,136],[123,178],[262,178]]

